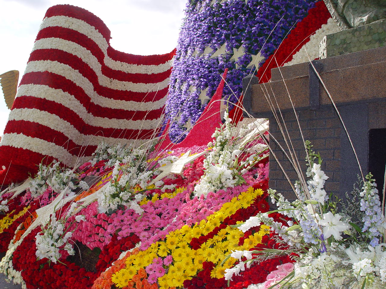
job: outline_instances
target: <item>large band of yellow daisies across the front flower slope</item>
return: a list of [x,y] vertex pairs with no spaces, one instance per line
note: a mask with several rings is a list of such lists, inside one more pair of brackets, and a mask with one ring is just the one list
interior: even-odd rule
[[240,208],[249,207],[254,199],[261,196],[262,193],[261,189],[254,190],[250,187],[238,197],[232,198],[230,202],[224,203],[220,210],[201,220],[201,222],[195,223],[192,227],[185,225],[179,230],[170,232],[164,241],[156,242],[136,255],[130,255],[125,260],[127,267],[113,274],[112,282],[115,286],[122,288],[126,286],[126,280],[130,280],[139,269],[145,269],[146,266],[152,263],[154,258],[168,255],[173,257],[173,263],[169,265],[168,272],[158,278],[160,289],[183,286],[183,282],[195,276],[203,268],[203,262],[206,261],[215,264],[211,276],[222,278],[225,269],[233,267],[236,262],[236,259],[230,257],[221,265],[226,255],[230,254],[232,250],[252,249],[261,243],[262,236],[267,234],[267,230],[262,229],[249,236],[240,246],[239,240],[244,234],[230,226],[220,230],[213,238],[201,244],[197,250],[191,249],[190,242],[193,238],[205,236],[212,232],[225,218],[233,215]]

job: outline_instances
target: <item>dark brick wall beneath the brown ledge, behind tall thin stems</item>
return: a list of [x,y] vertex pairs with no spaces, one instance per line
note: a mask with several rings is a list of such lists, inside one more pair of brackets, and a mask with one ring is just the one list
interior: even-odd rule
[[[341,125],[337,114],[332,107],[324,107],[320,111],[300,110],[297,111],[297,113],[304,139],[310,140],[314,145],[314,150],[320,152],[320,155],[323,158],[322,170],[324,170],[329,177],[329,180],[326,183],[326,190],[334,193],[339,192]],[[298,158],[304,173],[306,171],[306,153],[298,122],[296,121],[293,111],[284,112],[283,117],[285,119],[289,138],[295,148],[296,157]],[[284,129],[282,121],[281,126]],[[278,143],[284,147],[286,142],[284,141],[279,125],[273,116],[269,118],[269,131]],[[270,144],[273,153],[276,155],[278,161],[291,179],[291,183],[294,183],[298,177],[288,161],[288,158],[281,151],[279,145],[273,141],[273,138],[271,138]],[[289,155],[288,148],[286,148],[286,152]],[[289,199],[295,198],[291,186],[286,180],[278,162],[274,160],[272,155],[270,157],[269,165],[269,187],[275,188],[278,192],[285,193]]]

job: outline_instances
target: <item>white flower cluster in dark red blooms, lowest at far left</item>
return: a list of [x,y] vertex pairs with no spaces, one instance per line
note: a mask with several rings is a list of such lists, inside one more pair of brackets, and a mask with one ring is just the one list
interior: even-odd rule
[[72,232],[64,234],[64,220],[56,220],[53,215],[48,227],[42,229],[42,232],[36,235],[36,257],[39,259],[47,258],[56,263],[61,254],[59,250],[63,249],[69,255],[74,255],[75,251],[68,240],[72,237]]

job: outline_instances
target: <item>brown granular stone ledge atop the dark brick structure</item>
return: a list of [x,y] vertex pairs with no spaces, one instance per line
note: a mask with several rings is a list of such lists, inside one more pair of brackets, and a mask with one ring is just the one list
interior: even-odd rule
[[[386,47],[316,61],[322,66],[320,76],[335,103],[386,101]],[[250,107],[246,106],[247,111],[252,116],[270,113],[267,95],[276,97],[281,110],[292,109],[288,93],[295,108],[309,109],[309,64],[304,62],[272,69],[271,82],[244,89],[244,96],[248,96],[245,102],[250,103]],[[321,85],[318,91],[320,105],[330,105],[327,92]]]

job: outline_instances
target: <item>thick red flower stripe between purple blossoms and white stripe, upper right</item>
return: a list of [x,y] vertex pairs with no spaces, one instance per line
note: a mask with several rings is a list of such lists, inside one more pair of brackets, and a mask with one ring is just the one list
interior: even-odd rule
[[[291,30],[290,34],[281,42],[278,49],[271,54],[257,71],[259,82],[271,79],[271,69],[283,66],[292,60],[293,55],[310,41],[310,36],[320,29],[331,18],[330,12],[323,1],[315,3],[315,7],[308,10],[308,15]],[[277,62],[277,64],[276,64]]]

